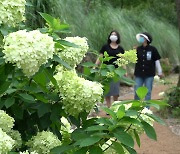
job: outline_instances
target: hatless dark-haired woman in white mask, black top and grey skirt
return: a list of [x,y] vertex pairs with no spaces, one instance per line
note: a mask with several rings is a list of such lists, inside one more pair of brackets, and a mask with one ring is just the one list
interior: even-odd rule
[[[117,54],[124,53],[124,49],[119,45],[120,44],[120,35],[117,31],[112,31],[107,40],[107,44],[103,45],[100,50],[100,56],[104,55],[104,52],[106,51],[109,56],[113,56],[109,61],[104,62],[107,65],[114,65],[116,68],[118,67],[114,62],[118,59]],[[99,59],[97,59],[96,64],[100,64]],[[113,96],[114,101],[118,100],[119,97],[119,86],[120,82],[111,82],[110,83],[110,90],[108,94],[105,96],[107,106],[111,106],[111,96]]]

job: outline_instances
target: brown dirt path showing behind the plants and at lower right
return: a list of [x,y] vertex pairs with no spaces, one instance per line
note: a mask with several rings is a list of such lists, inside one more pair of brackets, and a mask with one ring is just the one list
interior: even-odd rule
[[[171,76],[168,80],[176,82],[177,76]],[[152,99],[162,99],[158,94],[165,91],[170,86],[171,85],[155,82],[152,91]],[[133,97],[133,87],[121,86],[119,100],[133,99]],[[100,112],[99,116],[105,116],[105,113]],[[180,154],[180,122],[176,122],[175,119],[164,120],[167,123],[165,126],[158,123],[154,124],[157,133],[157,141],[149,139],[145,134],[141,136],[141,147],[135,146],[138,154]]]

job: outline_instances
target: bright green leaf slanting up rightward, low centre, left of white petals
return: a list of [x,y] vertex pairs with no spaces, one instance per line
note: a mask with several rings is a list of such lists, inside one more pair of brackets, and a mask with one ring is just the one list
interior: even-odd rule
[[82,139],[80,143],[80,147],[87,147],[87,146],[93,145],[99,142],[100,139],[101,137],[99,136],[90,136],[88,138]]

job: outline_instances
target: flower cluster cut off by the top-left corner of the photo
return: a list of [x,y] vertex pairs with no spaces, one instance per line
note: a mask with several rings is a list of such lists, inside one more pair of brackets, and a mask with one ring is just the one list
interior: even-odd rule
[[16,26],[25,20],[25,0],[0,1],[0,25]]

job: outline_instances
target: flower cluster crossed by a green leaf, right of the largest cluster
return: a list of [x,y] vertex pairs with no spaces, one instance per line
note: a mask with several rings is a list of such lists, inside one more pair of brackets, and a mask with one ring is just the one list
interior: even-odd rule
[[85,56],[86,52],[88,51],[88,43],[85,37],[66,37],[65,41],[71,42],[76,44],[78,47],[66,47],[64,46],[64,50],[59,52],[59,57],[68,63],[71,67],[76,67],[83,57]]

